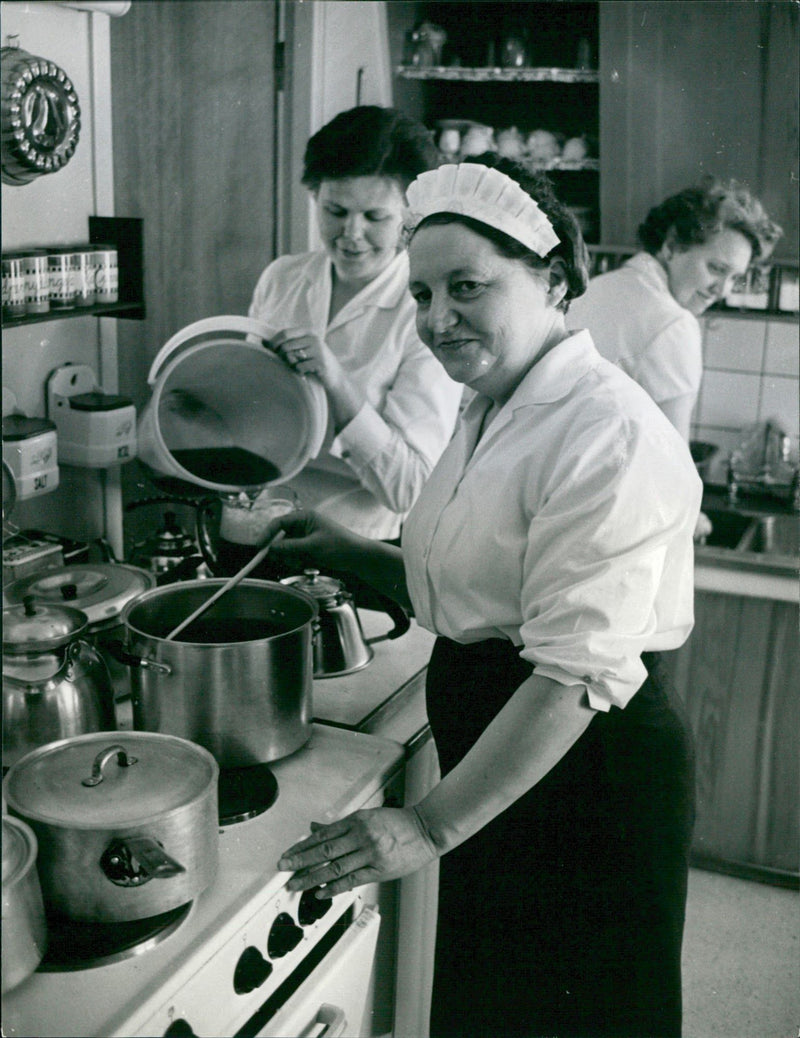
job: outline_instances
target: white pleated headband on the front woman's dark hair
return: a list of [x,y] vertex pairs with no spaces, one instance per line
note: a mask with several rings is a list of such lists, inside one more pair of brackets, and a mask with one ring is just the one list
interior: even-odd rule
[[516,181],[477,162],[447,164],[420,173],[407,192],[411,222],[434,213],[456,213],[502,230],[545,256],[559,243],[553,225]]

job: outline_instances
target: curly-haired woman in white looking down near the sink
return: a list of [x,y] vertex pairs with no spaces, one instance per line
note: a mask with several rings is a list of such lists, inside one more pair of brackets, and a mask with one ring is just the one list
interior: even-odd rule
[[697,318],[771,253],[781,229],[735,181],[709,179],[650,211],[643,251],[601,274],[571,310],[598,350],[655,400],[688,441],[702,378]]

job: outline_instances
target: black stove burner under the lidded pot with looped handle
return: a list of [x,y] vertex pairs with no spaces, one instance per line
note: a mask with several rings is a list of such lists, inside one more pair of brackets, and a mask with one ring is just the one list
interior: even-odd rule
[[120,962],[148,952],[173,933],[189,914],[192,902],[160,916],[127,923],[79,923],[48,913],[48,948],[39,973],[67,973]]

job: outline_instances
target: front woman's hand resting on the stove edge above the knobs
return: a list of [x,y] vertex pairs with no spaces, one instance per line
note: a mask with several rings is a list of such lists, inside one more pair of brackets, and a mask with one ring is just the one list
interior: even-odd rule
[[328,898],[362,883],[397,879],[437,856],[412,808],[373,808],[330,825],[311,822],[311,836],[284,851],[278,868],[295,873],[291,891],[325,884]]

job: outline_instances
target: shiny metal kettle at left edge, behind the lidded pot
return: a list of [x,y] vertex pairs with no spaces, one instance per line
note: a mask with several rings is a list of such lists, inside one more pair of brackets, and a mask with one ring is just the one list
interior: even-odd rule
[[47,742],[116,729],[111,678],[82,637],[87,627],[80,609],[33,595],[3,609],[3,769]]

